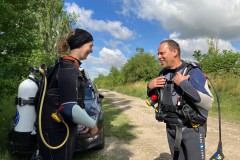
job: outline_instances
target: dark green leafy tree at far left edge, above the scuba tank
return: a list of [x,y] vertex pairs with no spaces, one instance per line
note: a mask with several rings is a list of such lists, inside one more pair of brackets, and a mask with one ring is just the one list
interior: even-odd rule
[[[37,23],[31,1],[0,0],[0,81],[11,88],[29,68],[28,57],[38,47]],[[4,87],[5,82],[13,83]],[[10,90],[10,89],[9,89]]]

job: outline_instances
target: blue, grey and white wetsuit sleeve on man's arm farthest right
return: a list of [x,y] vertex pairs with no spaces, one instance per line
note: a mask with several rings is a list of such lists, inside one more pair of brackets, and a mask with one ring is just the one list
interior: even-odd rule
[[185,80],[180,83],[180,87],[184,91],[185,96],[196,106],[205,110],[211,109],[213,96],[202,71],[199,68],[195,68],[191,70],[189,74],[189,81]]

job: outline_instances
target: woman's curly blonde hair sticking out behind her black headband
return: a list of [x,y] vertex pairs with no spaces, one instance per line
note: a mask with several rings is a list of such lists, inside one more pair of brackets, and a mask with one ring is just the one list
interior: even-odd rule
[[75,29],[71,30],[67,36],[60,37],[56,46],[56,50],[61,54],[68,54],[70,46],[68,44],[68,39],[75,34]]

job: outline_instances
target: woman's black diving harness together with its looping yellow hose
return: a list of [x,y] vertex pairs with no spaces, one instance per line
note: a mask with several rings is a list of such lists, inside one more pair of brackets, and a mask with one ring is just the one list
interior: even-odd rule
[[[59,89],[58,89],[58,71],[60,69],[60,63],[72,63],[76,67],[76,72],[78,73],[78,90],[80,94],[77,96],[77,103],[79,104],[80,107],[84,108],[84,85],[86,81],[85,74],[79,70],[79,62],[74,59],[73,57],[70,56],[63,56],[60,57],[56,62],[55,65],[52,67],[49,67],[47,69],[47,74],[45,74],[44,69],[43,70],[43,82],[42,82],[42,87],[40,87],[39,92],[36,95],[36,102],[41,102],[41,104],[37,104],[38,106],[38,125],[39,125],[39,134],[40,137],[43,141],[43,143],[50,149],[58,149],[62,147],[69,136],[69,127],[68,126],[74,126],[73,122],[68,121],[67,119],[64,118],[64,116],[61,114],[61,102],[59,99]],[[68,77],[63,77],[63,78],[68,78]],[[49,82],[49,83],[47,83]],[[45,96],[46,95],[46,96]],[[45,98],[45,100],[44,100]],[[41,100],[41,101],[40,101]],[[44,106],[44,107],[43,107]],[[44,116],[42,115],[42,112],[44,112]],[[41,122],[41,117],[43,116],[43,122]],[[66,123],[66,122],[67,123]],[[57,123],[56,123],[57,122]],[[63,122],[64,125],[66,126],[67,129],[67,134],[66,138],[64,141],[58,145],[58,146],[50,146],[46,141],[45,138],[43,137],[42,134],[42,125],[41,124],[47,124],[46,129],[50,130],[57,130],[61,129],[62,124],[60,122]]]

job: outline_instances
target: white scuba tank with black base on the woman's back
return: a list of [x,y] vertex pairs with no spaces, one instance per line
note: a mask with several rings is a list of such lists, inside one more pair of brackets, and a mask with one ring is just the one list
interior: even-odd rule
[[36,148],[37,133],[35,122],[35,96],[38,91],[38,82],[32,72],[18,87],[16,97],[16,115],[10,132],[10,149],[17,154],[32,154]]

